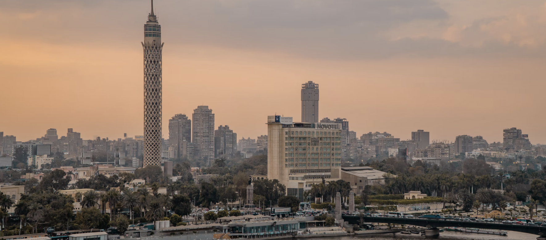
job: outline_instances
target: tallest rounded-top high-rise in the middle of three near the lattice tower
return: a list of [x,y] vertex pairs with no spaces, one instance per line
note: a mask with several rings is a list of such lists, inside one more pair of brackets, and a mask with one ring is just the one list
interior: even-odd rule
[[192,114],[193,151],[197,159],[214,158],[214,114],[209,106],[198,106]]

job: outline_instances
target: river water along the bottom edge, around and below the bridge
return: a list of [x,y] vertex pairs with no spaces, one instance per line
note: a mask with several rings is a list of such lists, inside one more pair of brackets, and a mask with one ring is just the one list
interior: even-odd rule
[[[508,231],[508,236],[498,236],[498,235],[489,235],[489,234],[480,234],[480,233],[468,233],[468,232],[440,232],[440,236],[435,239],[443,240],[536,240],[538,235],[533,235],[523,232],[512,232]],[[361,239],[360,239],[361,238]],[[351,235],[351,236],[342,236],[342,237],[317,237],[317,238],[301,238],[306,240],[325,240],[325,239],[336,239],[336,240],[389,240],[389,239],[400,239],[400,240],[416,240],[416,239],[425,239],[424,236],[419,234],[401,234],[401,233],[383,233],[378,235]],[[430,238],[426,238],[430,239]]]

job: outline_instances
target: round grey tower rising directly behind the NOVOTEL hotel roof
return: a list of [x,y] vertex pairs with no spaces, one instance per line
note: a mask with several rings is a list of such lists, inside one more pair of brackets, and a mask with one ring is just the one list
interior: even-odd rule
[[318,84],[301,84],[301,122],[318,122]]

